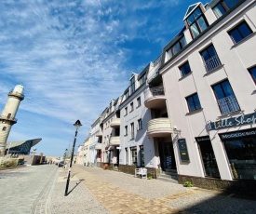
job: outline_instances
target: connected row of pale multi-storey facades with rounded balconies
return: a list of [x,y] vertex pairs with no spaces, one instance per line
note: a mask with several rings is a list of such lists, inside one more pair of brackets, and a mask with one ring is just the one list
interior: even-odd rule
[[256,2],[196,3],[183,21],[160,56],[131,74],[120,102],[106,108],[98,166],[128,173],[146,167],[157,179],[252,190]]

